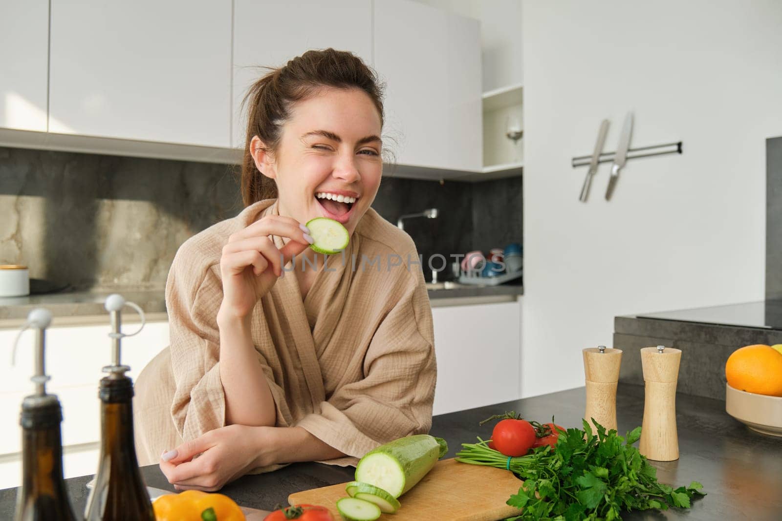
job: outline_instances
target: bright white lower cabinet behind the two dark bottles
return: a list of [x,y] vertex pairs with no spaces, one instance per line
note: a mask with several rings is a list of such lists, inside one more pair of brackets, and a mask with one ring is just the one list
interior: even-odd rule
[[[108,316],[106,316],[108,321]],[[57,319],[54,319],[57,323]],[[132,333],[137,323],[123,325]],[[106,376],[103,366],[111,362],[109,325],[52,327],[46,334],[46,372],[52,376],[47,391],[57,394],[63,406],[63,450],[66,477],[94,473],[100,441],[99,380]],[[10,347],[17,330],[0,330],[0,345]],[[147,323],[142,332],[122,341],[122,362],[131,366],[128,373],[135,380],[138,373],[169,343],[168,323]],[[34,333],[27,331],[16,350],[16,366],[0,364],[0,488],[16,487],[21,476],[21,428],[19,412],[22,400],[32,394],[34,384]],[[5,355],[10,355],[9,351]],[[13,467],[13,468],[12,468]],[[85,471],[86,470],[86,471]],[[7,472],[6,472],[7,471]]]

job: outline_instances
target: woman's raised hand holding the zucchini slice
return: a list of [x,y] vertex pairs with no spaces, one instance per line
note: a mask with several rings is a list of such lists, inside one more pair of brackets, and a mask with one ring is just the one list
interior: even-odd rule
[[[269,235],[291,240],[278,249]],[[245,319],[249,316],[255,303],[282,277],[285,264],[312,243],[307,227],[283,216],[266,216],[232,234],[220,259],[223,302],[218,317]]]

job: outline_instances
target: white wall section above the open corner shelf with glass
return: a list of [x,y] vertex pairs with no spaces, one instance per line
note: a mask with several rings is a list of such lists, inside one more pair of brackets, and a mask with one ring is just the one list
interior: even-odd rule
[[522,83],[522,0],[418,0],[481,22],[483,91]]

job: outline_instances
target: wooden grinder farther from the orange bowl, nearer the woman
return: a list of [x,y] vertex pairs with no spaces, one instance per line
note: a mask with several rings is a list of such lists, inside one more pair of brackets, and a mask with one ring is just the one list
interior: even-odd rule
[[616,429],[616,384],[619,382],[619,365],[622,363],[622,350],[597,348],[583,350],[584,375],[587,384],[587,412],[584,419],[595,430],[592,418],[605,427]]

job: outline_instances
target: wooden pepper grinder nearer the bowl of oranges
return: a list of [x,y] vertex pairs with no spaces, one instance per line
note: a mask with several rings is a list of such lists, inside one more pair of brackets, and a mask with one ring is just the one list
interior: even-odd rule
[[656,462],[679,459],[676,433],[676,380],[682,351],[658,345],[640,350],[646,391],[644,423],[641,424],[638,450]]

